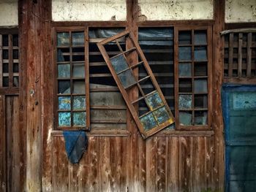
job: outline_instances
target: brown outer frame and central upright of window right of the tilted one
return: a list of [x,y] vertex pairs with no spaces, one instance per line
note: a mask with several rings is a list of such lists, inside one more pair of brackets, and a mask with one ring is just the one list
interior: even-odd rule
[[[204,30],[207,31],[207,124],[206,125],[191,125],[191,126],[181,126],[179,123],[179,108],[178,108],[178,31],[192,31],[192,55],[194,55],[194,31],[200,31]],[[176,130],[184,130],[184,131],[195,131],[195,130],[201,130],[201,131],[207,131],[211,129],[211,120],[212,120],[212,28],[211,26],[178,26],[174,27],[174,82],[175,82],[175,122],[176,122]],[[193,91],[193,82],[195,76],[194,74],[194,57],[192,56],[192,120],[195,107],[194,106],[194,91]]]

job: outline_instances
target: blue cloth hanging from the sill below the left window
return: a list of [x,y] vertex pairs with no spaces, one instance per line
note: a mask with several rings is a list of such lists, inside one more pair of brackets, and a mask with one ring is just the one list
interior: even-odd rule
[[88,147],[85,131],[63,131],[67,158],[72,164],[78,164]]

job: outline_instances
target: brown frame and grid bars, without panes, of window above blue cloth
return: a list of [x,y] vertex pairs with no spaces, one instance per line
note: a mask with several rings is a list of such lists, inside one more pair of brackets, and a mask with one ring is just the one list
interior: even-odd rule
[[[79,61],[79,63],[84,63],[84,67],[85,67],[85,75],[84,77],[72,77],[72,48],[75,46],[72,46],[72,33],[73,32],[83,32],[84,34],[84,43],[83,45],[79,45],[78,47],[83,47],[84,48],[84,61]],[[57,46],[57,33],[69,33],[69,45],[68,46],[64,46],[66,48],[69,48],[69,61],[67,61],[66,63],[70,65],[70,75],[69,77],[65,78],[65,80],[69,80],[70,81],[70,93],[68,96],[70,96],[70,110],[59,110],[59,96],[61,96],[61,94],[58,93],[58,82],[59,82],[59,78],[58,78],[58,60],[57,60],[57,55],[58,55],[58,46]],[[53,51],[53,79],[54,79],[54,94],[55,94],[55,99],[54,99],[54,124],[55,124],[55,129],[57,130],[70,130],[70,131],[75,131],[78,129],[83,129],[85,131],[90,131],[90,102],[89,102],[89,29],[88,27],[58,27],[58,28],[53,28],[53,47],[54,47],[54,51]],[[61,46],[60,46],[61,47]],[[76,96],[76,94],[73,94],[73,86],[72,86],[72,81],[73,80],[84,80],[85,81],[85,93],[81,93],[78,95],[81,96],[85,96],[86,98],[86,107],[84,110],[73,110],[73,104],[72,104],[72,100],[73,100],[73,96]],[[66,96],[66,95],[63,95]],[[59,112],[70,112],[70,126],[59,126]],[[86,119],[86,125],[85,126],[73,126],[73,120],[72,120],[72,113],[73,112],[86,112],[86,117],[84,117]]]

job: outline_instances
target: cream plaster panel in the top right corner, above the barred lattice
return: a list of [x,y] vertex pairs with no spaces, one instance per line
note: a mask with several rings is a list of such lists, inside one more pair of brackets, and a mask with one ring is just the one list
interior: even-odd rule
[[225,23],[256,22],[256,0],[226,0]]

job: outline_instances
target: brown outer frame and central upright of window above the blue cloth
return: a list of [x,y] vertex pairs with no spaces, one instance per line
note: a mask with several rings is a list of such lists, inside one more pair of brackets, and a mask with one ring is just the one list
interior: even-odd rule
[[[82,127],[82,126],[72,126],[72,115],[71,115],[71,126],[67,126],[67,127],[61,127],[59,126],[59,114],[58,114],[58,107],[59,107],[59,104],[58,104],[58,99],[59,99],[59,96],[58,96],[58,69],[57,69],[57,66],[58,66],[58,62],[57,62],[57,33],[59,32],[68,32],[69,33],[69,50],[72,49],[72,32],[81,32],[83,31],[84,33],[84,54],[85,54],[85,59],[84,61],[81,61],[81,62],[84,62],[85,64],[85,97],[86,97],[86,126]],[[54,90],[54,128],[56,130],[61,130],[61,131],[75,131],[75,130],[78,130],[78,129],[83,129],[85,131],[90,131],[90,100],[89,100],[89,29],[88,27],[53,27],[53,35],[52,35],[53,39],[53,80],[54,80],[54,86],[53,86],[53,90]],[[69,51],[70,53],[70,51]],[[72,58],[72,55],[70,55],[70,58]],[[70,65],[70,75],[72,74],[72,59],[70,59],[69,63],[71,64]],[[70,76],[69,77],[69,80],[72,80],[72,77]],[[72,90],[72,83],[70,84],[70,91]],[[71,101],[71,104],[70,104],[70,112],[74,112],[72,110],[72,92],[70,92],[70,101]]]

